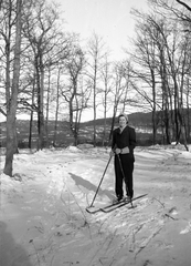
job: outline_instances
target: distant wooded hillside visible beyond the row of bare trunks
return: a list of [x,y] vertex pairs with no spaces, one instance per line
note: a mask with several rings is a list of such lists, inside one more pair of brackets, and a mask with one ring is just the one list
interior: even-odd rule
[[[93,142],[93,124],[94,121],[88,121],[81,123],[79,130],[79,143],[92,143]],[[139,145],[148,145],[151,144],[151,134],[148,133],[147,130],[151,127],[151,113],[134,113],[129,114],[129,124],[136,129],[137,132],[137,141]],[[1,146],[6,146],[6,122],[0,123],[1,132],[0,132],[0,144]],[[106,120],[106,136],[108,139],[112,125],[112,117]],[[118,125],[118,121],[116,119],[115,125]],[[45,145],[50,146],[54,140],[54,121],[49,121],[47,129],[49,129],[49,136],[46,140]],[[144,129],[140,132],[140,127]],[[30,122],[24,120],[17,121],[17,130],[18,130],[18,143],[19,147],[28,147],[29,143],[29,132],[30,132]],[[103,136],[104,136],[104,119],[96,120],[96,132],[97,132],[97,145],[102,145]],[[145,133],[144,133],[145,132]],[[46,137],[45,137],[46,139]],[[36,147],[36,140],[38,140],[38,122],[33,122],[32,129],[32,146]],[[57,146],[67,146],[73,144],[73,135],[70,130],[70,124],[66,121],[59,121],[57,122],[57,130],[56,130],[56,145]],[[159,140],[160,141],[160,140]]]

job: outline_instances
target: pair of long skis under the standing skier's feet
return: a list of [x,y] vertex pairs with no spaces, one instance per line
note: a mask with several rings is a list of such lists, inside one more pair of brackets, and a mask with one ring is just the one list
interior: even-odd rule
[[[86,211],[91,214],[96,214],[98,212],[103,212],[103,213],[110,213],[113,212],[114,209],[117,209],[117,208],[120,208],[127,204],[131,204],[131,208],[134,208],[134,205],[132,203],[141,197],[145,197],[147,196],[147,194],[144,194],[144,195],[140,195],[140,196],[137,196],[135,198],[132,198],[131,201],[126,201],[126,200],[121,200],[120,202],[117,202],[117,203],[113,203],[113,204],[109,204],[109,205],[106,205],[105,207],[98,207],[98,208],[95,208],[95,207],[87,207]],[[92,208],[92,209],[91,209]]]

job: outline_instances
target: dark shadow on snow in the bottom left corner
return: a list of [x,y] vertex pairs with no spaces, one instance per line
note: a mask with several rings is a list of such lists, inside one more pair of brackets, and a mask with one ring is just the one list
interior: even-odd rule
[[26,250],[17,244],[7,225],[0,221],[0,265],[2,266],[32,266]]

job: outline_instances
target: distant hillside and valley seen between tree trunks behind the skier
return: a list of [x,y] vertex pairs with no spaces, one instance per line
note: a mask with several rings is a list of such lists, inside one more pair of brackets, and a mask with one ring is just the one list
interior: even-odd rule
[[[113,117],[98,119],[96,120],[96,146],[109,147],[112,142],[109,141],[110,126]],[[106,129],[104,124],[106,122]],[[44,147],[46,149],[60,149],[74,145],[74,136],[70,130],[70,123],[67,121],[57,121],[57,129],[55,132],[55,121],[50,120],[47,123],[49,137],[44,139]],[[129,114],[129,125],[136,130],[136,139],[138,146],[152,145],[152,133],[151,133],[151,113],[132,113]],[[115,126],[118,126],[118,119],[115,120]],[[6,122],[0,123],[0,147],[6,147]],[[30,121],[29,120],[17,120],[17,137],[18,147],[29,149],[29,143],[33,151],[36,150],[38,142],[38,121],[33,121],[32,141],[30,142],[29,136]],[[79,125],[78,143],[77,144],[94,144],[93,143],[94,121],[83,122]],[[56,142],[55,142],[56,133]],[[104,142],[103,135],[106,135]],[[161,131],[157,134],[157,144],[163,144]]]

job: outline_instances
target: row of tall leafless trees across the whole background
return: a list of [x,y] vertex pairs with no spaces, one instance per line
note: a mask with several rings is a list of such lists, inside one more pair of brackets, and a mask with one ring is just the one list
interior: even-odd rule
[[30,115],[31,139],[38,119],[38,149],[43,149],[49,137],[50,119],[55,121],[55,142],[57,121],[67,119],[77,144],[82,115],[92,109],[96,145],[97,113],[102,111],[105,121],[112,113],[112,132],[116,115],[129,106],[152,113],[153,144],[160,129],[166,143],[183,136],[187,146],[191,137],[191,8],[179,0],[148,0],[148,6],[147,13],[131,11],[137,21],[135,38],[124,60],[114,62],[96,32],[84,47],[79,34],[66,32],[54,2],[1,0],[0,112],[7,117],[6,174],[12,175],[18,147],[17,114]]

